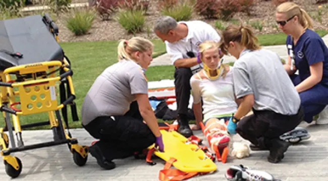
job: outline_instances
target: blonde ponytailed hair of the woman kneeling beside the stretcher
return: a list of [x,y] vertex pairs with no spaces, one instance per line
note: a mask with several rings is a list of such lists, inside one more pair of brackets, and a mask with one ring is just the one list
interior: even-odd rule
[[129,40],[122,39],[118,45],[118,60],[122,59],[131,59],[135,61],[135,59],[131,56],[134,52],[140,51],[145,52],[151,48],[153,48],[154,44],[142,37],[133,37]]

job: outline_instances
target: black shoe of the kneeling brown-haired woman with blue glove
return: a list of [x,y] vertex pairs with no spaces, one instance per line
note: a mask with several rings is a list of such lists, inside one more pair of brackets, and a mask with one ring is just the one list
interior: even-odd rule
[[286,141],[280,139],[273,139],[272,146],[270,148],[270,154],[267,157],[267,161],[270,163],[279,163],[284,158],[284,154],[289,146],[290,143]]

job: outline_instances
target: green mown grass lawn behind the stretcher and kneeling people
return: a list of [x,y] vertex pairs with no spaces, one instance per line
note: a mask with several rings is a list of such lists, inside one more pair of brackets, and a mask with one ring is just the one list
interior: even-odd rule
[[[323,36],[327,31],[318,31]],[[286,35],[283,33],[272,35],[260,35],[259,41],[261,45],[284,44]],[[153,56],[157,56],[166,52],[165,43],[155,39]],[[117,41],[96,41],[96,42],[63,42],[60,43],[66,55],[70,58],[72,64],[73,83],[76,92],[76,103],[78,115],[81,115],[80,109],[86,92],[89,90],[95,78],[108,66],[117,62]],[[150,67],[146,76],[148,81],[156,81],[161,79],[173,79],[173,66],[156,66]],[[68,111],[70,112],[70,111]],[[29,116],[21,116],[21,124],[41,122],[47,120],[44,113]],[[4,121],[0,121],[0,127],[4,126]],[[80,128],[80,122],[72,122],[70,126]],[[41,127],[42,129],[49,127]],[[35,128],[35,129],[40,129]]]

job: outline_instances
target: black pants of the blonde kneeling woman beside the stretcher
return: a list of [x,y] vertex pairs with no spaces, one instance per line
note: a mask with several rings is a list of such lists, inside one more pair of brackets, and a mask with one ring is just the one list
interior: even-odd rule
[[143,123],[137,102],[132,102],[125,115],[100,116],[84,128],[99,139],[95,143],[107,160],[126,158],[142,151],[155,142],[155,136]]

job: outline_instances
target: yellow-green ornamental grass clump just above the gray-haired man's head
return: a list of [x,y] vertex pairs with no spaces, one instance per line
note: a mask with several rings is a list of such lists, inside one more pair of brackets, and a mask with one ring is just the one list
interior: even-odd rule
[[187,21],[191,19],[193,12],[193,5],[185,2],[177,3],[175,6],[170,8],[163,8],[161,10],[162,15],[171,16],[176,21]]

